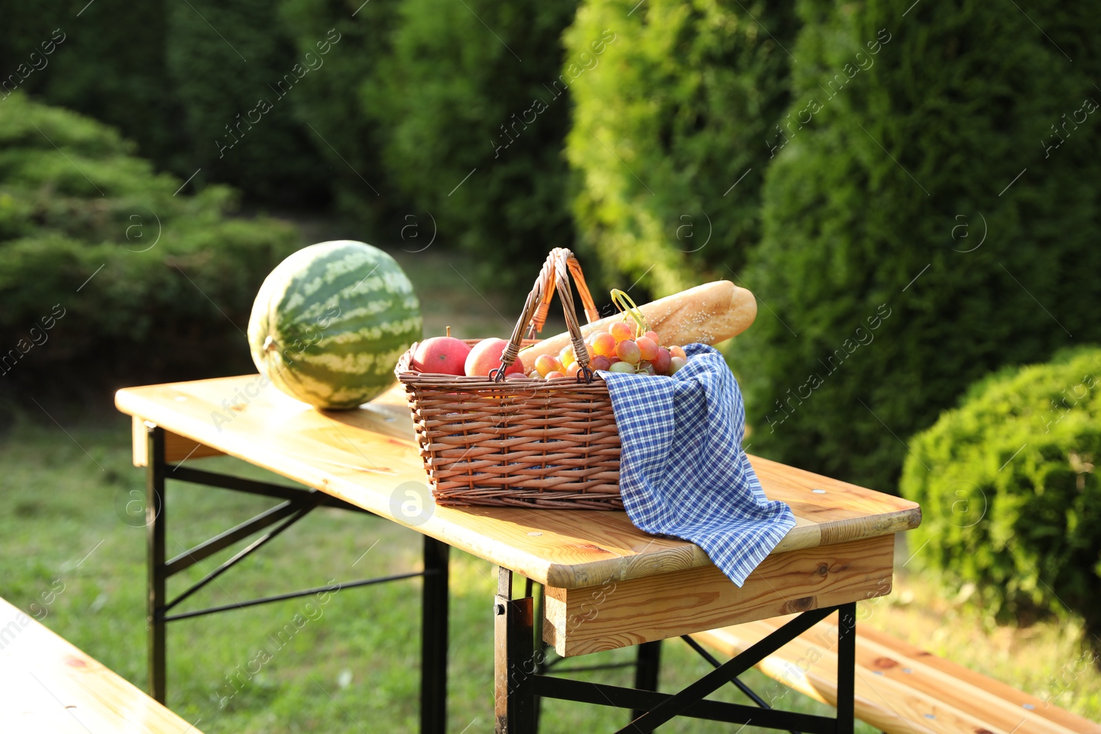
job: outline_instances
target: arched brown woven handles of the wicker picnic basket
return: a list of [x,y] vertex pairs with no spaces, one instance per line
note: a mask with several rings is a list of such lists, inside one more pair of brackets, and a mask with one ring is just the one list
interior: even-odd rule
[[541,331],[546,322],[547,311],[550,307],[550,298],[557,289],[562,299],[563,315],[566,317],[566,329],[569,331],[569,340],[574,347],[574,354],[581,365],[578,370],[578,379],[584,375],[586,382],[592,381],[592,371],[589,370],[589,351],[585,348],[585,337],[581,336],[581,326],[577,322],[577,310],[574,306],[574,292],[569,287],[569,276],[573,274],[577,292],[581,296],[581,304],[585,306],[585,316],[591,324],[600,315],[592,303],[592,295],[585,283],[581,274],[581,265],[577,262],[574,253],[566,248],[555,248],[547,255],[546,262],[539,270],[539,276],[527,294],[524,303],[524,310],[512,330],[509,346],[501,354],[501,366],[491,373],[497,382],[504,380],[504,371],[516,361],[520,354],[520,344],[524,338],[524,329],[532,328],[532,331]]

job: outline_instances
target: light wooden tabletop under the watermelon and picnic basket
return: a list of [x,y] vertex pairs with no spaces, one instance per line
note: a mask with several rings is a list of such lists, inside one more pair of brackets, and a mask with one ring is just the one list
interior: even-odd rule
[[[259,375],[242,375],[129,387],[115,403],[135,418],[408,525],[394,515],[391,497],[405,482],[424,484],[426,475],[400,386],[353,410],[320,412],[262,384]],[[796,517],[774,554],[907,530],[922,521],[907,500],[750,460],[765,494],[786,502]],[[563,589],[711,565],[695,544],[647,535],[622,512],[435,507],[415,529]]]

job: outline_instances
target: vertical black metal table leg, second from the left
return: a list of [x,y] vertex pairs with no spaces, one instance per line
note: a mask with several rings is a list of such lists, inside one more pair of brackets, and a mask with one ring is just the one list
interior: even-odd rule
[[449,546],[424,536],[421,606],[421,732],[447,728],[447,580]]

